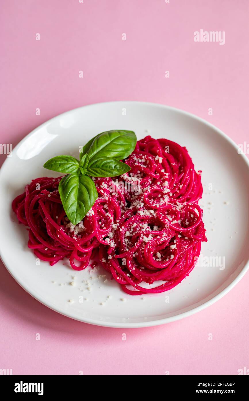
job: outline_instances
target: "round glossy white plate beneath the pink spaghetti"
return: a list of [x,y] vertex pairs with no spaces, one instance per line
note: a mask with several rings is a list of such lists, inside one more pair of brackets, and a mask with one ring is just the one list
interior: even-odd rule
[[[202,244],[201,261],[207,265],[201,266],[201,262],[195,266],[189,277],[169,292],[129,296],[109,277],[104,282],[105,277],[99,277],[105,274],[102,270],[74,271],[67,260],[53,267],[42,261],[36,265],[34,254],[27,247],[26,228],[18,224],[11,211],[13,198],[23,192],[32,178],[56,175],[42,167],[46,160],[59,154],[78,156],[79,145],[112,129],[133,130],[138,139],[150,134],[178,142],[186,146],[195,168],[203,171],[204,193],[200,204],[208,242]],[[172,107],[132,101],[80,107],[36,128],[4,162],[0,170],[0,255],[8,271],[29,294],[70,318],[126,328],[172,322],[217,301],[249,267],[248,182],[247,158],[238,154],[237,146],[225,134],[194,115]],[[221,257],[221,263],[213,256]],[[225,257],[224,269],[222,257]],[[70,285],[72,276],[76,277],[75,286]],[[88,279],[90,290],[84,283]]]

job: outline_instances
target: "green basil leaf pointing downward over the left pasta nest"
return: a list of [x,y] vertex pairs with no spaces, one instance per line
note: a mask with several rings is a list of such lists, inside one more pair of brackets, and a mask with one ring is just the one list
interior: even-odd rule
[[82,174],[68,174],[60,180],[59,193],[68,219],[78,224],[94,205],[98,192],[93,180]]

